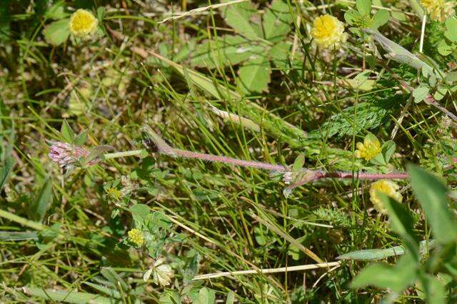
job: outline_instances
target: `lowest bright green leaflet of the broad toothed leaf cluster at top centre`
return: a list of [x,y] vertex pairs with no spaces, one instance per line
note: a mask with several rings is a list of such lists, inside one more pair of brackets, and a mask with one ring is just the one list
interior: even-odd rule
[[238,70],[238,86],[245,93],[261,93],[270,83],[270,62],[263,56],[246,61]]

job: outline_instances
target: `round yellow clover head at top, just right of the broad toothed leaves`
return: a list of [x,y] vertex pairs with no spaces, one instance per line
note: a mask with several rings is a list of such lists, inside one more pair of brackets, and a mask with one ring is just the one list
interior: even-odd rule
[[323,49],[340,46],[348,38],[348,34],[344,32],[343,22],[328,14],[314,19],[311,36]]

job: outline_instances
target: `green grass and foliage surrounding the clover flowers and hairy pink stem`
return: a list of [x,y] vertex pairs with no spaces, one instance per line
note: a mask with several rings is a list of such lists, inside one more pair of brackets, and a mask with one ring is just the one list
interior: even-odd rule
[[[0,1],[1,301],[455,302],[455,122],[424,99],[456,111],[457,26],[429,21],[416,57],[418,2],[362,2],[243,1],[160,22],[213,3]],[[69,34],[79,8],[99,19],[89,39]],[[341,49],[312,42],[325,12],[348,22]],[[407,53],[389,57],[361,24]],[[47,156],[51,140],[144,149],[145,124],[189,151],[353,173],[416,163],[433,176],[411,167],[401,206],[387,200],[381,215],[358,178],[285,197],[279,176],[253,168],[142,153],[64,173]],[[353,156],[368,133],[384,144],[371,162]],[[316,263],[302,248],[341,267],[192,280]],[[143,279],[157,258],[171,285]],[[380,258],[390,265],[371,265]]]

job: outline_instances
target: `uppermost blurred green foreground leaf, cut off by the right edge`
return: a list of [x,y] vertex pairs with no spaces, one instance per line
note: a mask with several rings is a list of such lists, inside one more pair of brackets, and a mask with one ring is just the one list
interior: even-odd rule
[[448,208],[446,186],[431,173],[417,166],[408,166],[413,193],[426,213],[436,240],[448,243],[457,240],[457,223]]

